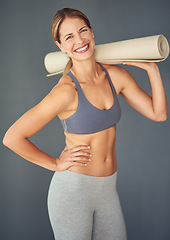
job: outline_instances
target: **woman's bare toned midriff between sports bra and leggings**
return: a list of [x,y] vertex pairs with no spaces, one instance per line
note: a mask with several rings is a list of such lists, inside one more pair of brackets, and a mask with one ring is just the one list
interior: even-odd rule
[[92,161],[87,162],[87,166],[72,166],[68,168],[69,171],[97,177],[109,176],[116,172],[116,127],[92,134],[80,135],[66,131],[64,131],[64,134],[68,149],[77,145],[87,145],[90,146],[88,152],[92,154]]

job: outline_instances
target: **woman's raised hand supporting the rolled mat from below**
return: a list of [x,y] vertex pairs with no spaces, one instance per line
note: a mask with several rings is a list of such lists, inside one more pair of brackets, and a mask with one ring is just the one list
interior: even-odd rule
[[144,70],[146,70],[147,72],[149,71],[157,71],[159,70],[158,65],[156,64],[156,62],[135,62],[135,61],[123,61],[123,65],[131,65],[131,66],[135,66],[135,67],[139,67],[142,68]]

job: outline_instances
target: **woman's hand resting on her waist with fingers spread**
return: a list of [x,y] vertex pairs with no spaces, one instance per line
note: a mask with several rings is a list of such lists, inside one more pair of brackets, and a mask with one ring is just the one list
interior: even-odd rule
[[61,152],[60,157],[56,159],[57,171],[64,171],[71,166],[87,166],[87,162],[91,161],[91,154],[85,150],[89,150],[89,146],[79,145],[68,150],[67,146]]

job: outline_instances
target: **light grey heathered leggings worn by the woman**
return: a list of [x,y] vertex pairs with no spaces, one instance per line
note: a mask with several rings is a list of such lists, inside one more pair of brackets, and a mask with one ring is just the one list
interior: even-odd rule
[[56,240],[127,239],[116,178],[54,173],[47,203]]

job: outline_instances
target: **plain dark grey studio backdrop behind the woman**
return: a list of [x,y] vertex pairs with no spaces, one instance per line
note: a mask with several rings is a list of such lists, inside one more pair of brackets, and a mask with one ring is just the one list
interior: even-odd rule
[[[73,7],[90,19],[96,44],[164,34],[170,42],[168,0],[4,0],[0,2],[1,139],[36,105],[61,75],[46,77],[44,56],[57,51],[50,25],[58,9]],[[170,57],[158,63],[170,103]],[[124,66],[151,94],[147,73]],[[146,119],[119,96],[117,188],[129,240],[170,239],[170,120]],[[57,157],[64,147],[56,117],[31,140]],[[2,142],[2,141],[1,141]],[[52,240],[47,192],[53,172],[22,159],[1,144],[0,239]],[[107,240],[107,239],[105,239]]]

